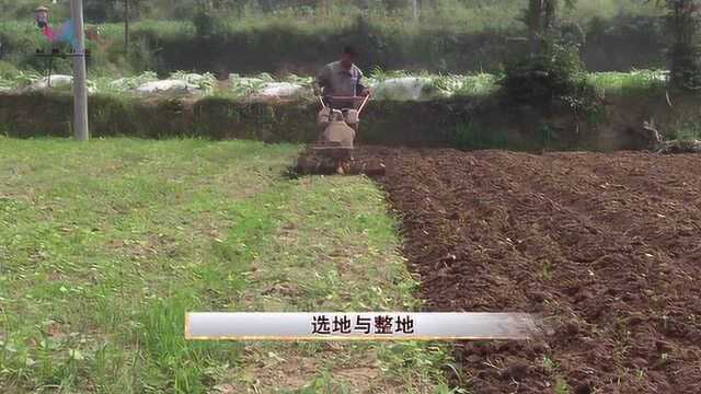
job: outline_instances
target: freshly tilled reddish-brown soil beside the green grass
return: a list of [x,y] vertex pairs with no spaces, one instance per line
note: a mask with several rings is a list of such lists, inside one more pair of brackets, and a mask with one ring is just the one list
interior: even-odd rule
[[434,311],[524,311],[458,344],[475,393],[701,393],[701,155],[374,149]]

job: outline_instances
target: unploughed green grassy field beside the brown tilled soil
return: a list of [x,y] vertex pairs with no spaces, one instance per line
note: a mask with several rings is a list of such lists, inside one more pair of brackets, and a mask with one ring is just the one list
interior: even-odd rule
[[449,393],[433,344],[188,343],[188,310],[416,310],[384,196],[299,147],[0,138],[3,393]]

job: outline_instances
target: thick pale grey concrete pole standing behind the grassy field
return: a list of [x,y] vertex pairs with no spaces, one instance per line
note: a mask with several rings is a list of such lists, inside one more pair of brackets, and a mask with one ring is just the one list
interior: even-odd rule
[[88,128],[88,77],[85,67],[85,30],[83,27],[83,0],[70,0],[70,15],[73,20],[73,34],[77,48],[73,48],[73,130],[76,139],[87,141]]

